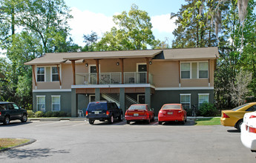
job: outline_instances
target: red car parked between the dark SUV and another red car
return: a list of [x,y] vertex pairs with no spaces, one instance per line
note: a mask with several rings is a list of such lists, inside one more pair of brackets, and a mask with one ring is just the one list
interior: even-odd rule
[[148,104],[132,104],[125,113],[127,124],[130,122],[146,121],[148,124],[154,121],[154,110]]

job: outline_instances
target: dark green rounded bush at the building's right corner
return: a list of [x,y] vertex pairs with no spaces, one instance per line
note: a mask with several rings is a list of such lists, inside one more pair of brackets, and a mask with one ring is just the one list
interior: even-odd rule
[[203,102],[198,110],[198,116],[216,116],[218,110],[214,107],[214,104]]

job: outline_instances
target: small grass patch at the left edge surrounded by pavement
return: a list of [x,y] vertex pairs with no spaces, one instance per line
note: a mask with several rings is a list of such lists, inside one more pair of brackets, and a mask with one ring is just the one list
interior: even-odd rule
[[19,144],[24,144],[29,142],[29,139],[9,139],[9,138],[0,138],[0,150],[7,148],[7,147],[13,147],[17,146]]

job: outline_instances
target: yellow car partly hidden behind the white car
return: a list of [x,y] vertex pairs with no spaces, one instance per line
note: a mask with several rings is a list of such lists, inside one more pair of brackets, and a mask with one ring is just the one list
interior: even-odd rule
[[223,126],[231,126],[240,130],[243,123],[243,116],[245,113],[256,111],[256,102],[243,104],[239,107],[235,107],[232,110],[222,110],[220,123]]

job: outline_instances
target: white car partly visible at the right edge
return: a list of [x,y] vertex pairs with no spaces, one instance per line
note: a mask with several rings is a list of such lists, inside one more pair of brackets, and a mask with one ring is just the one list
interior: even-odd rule
[[241,141],[252,152],[256,152],[256,112],[246,113],[243,116]]

